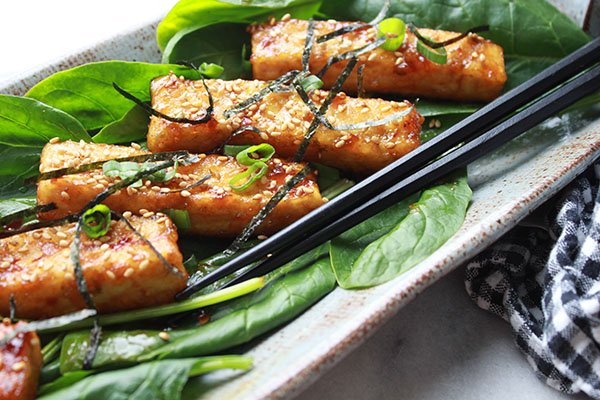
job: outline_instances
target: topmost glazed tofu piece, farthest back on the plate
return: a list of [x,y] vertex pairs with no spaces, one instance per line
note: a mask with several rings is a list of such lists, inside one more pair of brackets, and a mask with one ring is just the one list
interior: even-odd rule
[[[315,38],[356,22],[317,21]],[[302,51],[308,21],[273,21],[271,24],[251,25],[252,71],[255,79],[271,80],[282,74],[302,69]],[[419,33],[436,42],[459,35],[432,29],[419,29]],[[323,43],[314,42],[310,71],[318,73],[327,60],[341,53],[358,49],[371,43],[377,35],[376,28],[365,28]],[[367,92],[391,93],[403,96],[424,96],[458,101],[489,101],[496,98],[506,82],[504,54],[500,46],[471,34],[446,46],[446,64],[427,60],[417,51],[417,38],[407,30],[404,44],[395,52],[381,48],[359,56],[357,68],[343,88],[349,93],[357,90],[356,70],[364,65],[364,88]],[[346,62],[334,64],[323,77],[325,88],[337,80]]]

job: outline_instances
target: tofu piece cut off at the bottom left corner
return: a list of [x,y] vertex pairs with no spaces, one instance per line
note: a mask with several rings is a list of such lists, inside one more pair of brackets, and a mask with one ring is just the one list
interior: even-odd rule
[[[2,321],[0,339],[22,324]],[[35,332],[19,333],[0,346],[0,400],[34,399],[41,367],[40,339]]]

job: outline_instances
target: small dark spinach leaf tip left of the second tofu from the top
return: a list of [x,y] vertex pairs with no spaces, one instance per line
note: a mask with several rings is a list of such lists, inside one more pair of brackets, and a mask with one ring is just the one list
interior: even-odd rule
[[92,140],[94,143],[130,143],[146,140],[150,116],[144,109],[135,105],[121,119],[111,122],[100,130]]

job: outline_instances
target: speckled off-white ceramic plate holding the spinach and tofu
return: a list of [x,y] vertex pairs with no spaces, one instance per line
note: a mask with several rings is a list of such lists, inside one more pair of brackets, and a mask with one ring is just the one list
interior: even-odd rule
[[[23,94],[40,79],[89,61],[159,62],[149,24],[73,54],[0,93]],[[291,323],[248,346],[255,367],[194,379],[189,399],[289,398],[360,345],[403,305],[476,255],[564,187],[600,155],[600,118],[554,118],[469,167],[473,203],[460,231],[404,275],[360,291],[337,288]],[[357,366],[359,368],[359,366]]]

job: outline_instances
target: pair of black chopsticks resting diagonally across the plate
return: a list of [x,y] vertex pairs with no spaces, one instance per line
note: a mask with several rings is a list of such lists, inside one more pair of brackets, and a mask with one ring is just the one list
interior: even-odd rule
[[189,297],[252,263],[260,262],[234,278],[227,286],[264,275],[450,172],[465,167],[599,90],[600,65],[596,65],[599,62],[600,38],[597,38],[207,274],[180,292],[177,298]]

